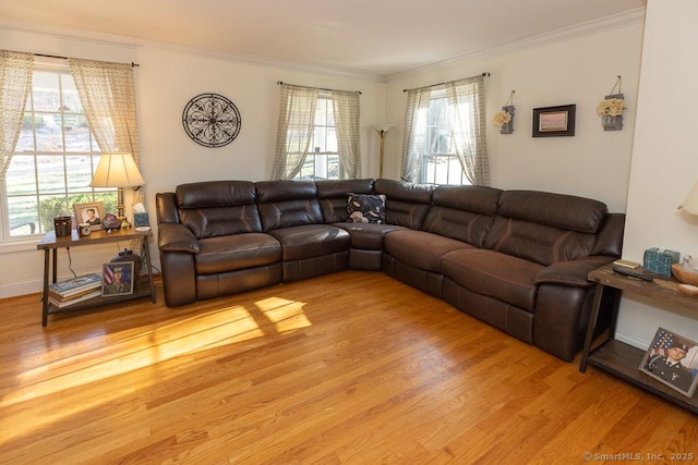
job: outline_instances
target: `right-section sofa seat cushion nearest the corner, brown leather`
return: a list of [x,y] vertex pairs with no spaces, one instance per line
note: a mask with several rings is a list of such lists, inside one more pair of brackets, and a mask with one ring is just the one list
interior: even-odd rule
[[470,244],[424,231],[400,230],[385,236],[384,250],[396,260],[423,271],[441,272],[442,257]]

